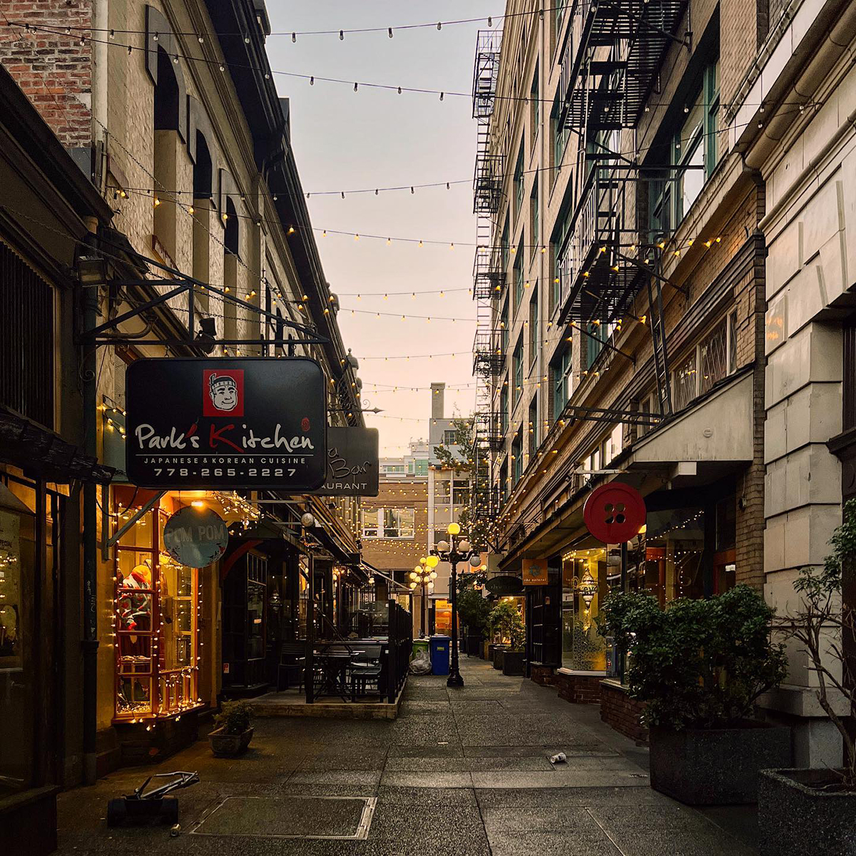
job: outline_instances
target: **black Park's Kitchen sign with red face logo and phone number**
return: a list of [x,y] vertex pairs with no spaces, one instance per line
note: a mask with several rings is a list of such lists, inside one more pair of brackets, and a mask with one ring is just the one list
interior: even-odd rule
[[125,387],[132,484],[303,492],[324,483],[326,392],[315,360],[137,360]]

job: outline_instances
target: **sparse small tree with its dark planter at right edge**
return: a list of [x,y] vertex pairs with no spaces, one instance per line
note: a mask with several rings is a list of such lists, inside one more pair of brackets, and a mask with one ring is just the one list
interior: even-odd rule
[[800,605],[779,623],[817,675],[817,702],[841,735],[841,766],[762,771],[764,856],[856,853],[856,500],[845,504],[829,544],[823,568],[800,569],[794,582]]

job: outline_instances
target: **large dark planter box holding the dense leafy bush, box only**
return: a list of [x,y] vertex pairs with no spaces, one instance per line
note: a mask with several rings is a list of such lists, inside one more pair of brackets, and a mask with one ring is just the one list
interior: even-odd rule
[[790,759],[790,728],[651,728],[651,788],[687,805],[757,802],[758,772]]

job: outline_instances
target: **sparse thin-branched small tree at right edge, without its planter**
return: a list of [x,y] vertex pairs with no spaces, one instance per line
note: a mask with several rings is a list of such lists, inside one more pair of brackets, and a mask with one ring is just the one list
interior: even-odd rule
[[[802,645],[817,675],[817,701],[844,743],[843,785],[856,789],[856,604],[842,603],[842,591],[853,589],[856,574],[856,500],[844,505],[844,522],[829,539],[832,551],[823,568],[800,568],[794,589],[800,607],[781,621],[790,639]],[[835,712],[831,695],[843,698],[847,715]]]

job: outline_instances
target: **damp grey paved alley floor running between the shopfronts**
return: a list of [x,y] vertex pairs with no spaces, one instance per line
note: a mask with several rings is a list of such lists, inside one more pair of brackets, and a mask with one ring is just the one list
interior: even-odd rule
[[[461,673],[458,689],[411,676],[395,721],[259,719],[241,758],[213,758],[199,740],[157,768],[61,794],[59,853],[755,853],[726,831],[728,810],[704,815],[652,791],[645,747],[603,725],[596,706],[481,660],[462,657]],[[556,752],[566,764],[550,764]],[[198,770],[201,780],[177,792],[179,835],[107,827],[110,797],[168,770]]]

